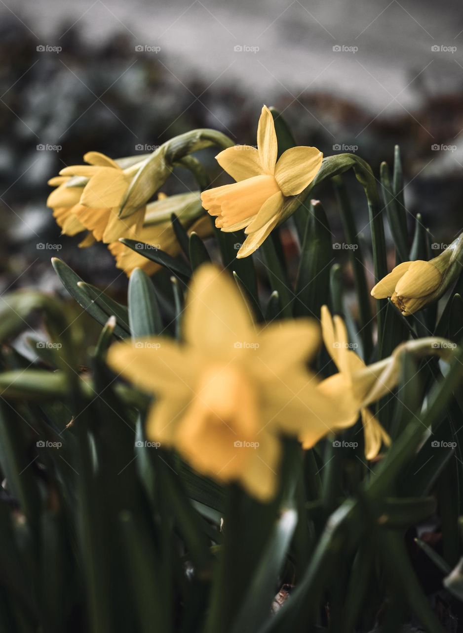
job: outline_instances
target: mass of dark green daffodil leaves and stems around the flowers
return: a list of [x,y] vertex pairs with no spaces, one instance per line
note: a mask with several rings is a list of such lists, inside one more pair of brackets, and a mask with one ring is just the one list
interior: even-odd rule
[[[295,141],[282,116],[273,109],[272,115],[281,153]],[[187,141],[201,149],[217,143],[210,134],[203,130]],[[227,146],[226,139],[219,141]],[[169,153],[206,184],[201,163],[184,160],[176,143]],[[215,231],[205,244],[194,232],[188,237],[173,216],[180,246],[175,258],[123,240],[169,273],[169,292],[159,273],[150,279],[136,268],[124,306],[55,258],[64,288],[102,326],[98,340],[87,341],[85,368],[76,362],[82,350],[75,319],[57,299],[38,292],[4,297],[1,631],[368,633],[383,614],[389,627],[414,617],[424,630],[440,633],[444,629],[417,572],[413,547],[431,564],[435,590],[447,587],[452,610],[461,613],[463,461],[455,456],[460,456],[463,353],[450,368],[403,354],[399,385],[378,413],[392,446],[372,463],[361,450],[335,447],[332,437],[310,451],[285,439],[279,491],[268,504],[196,473],[174,451],[148,441],[150,398],[105,363],[116,339],[164,334],[181,340],[186,285],[201,263],[218,257],[263,327],[292,316],[318,318],[328,303],[344,312],[366,362],[421,335],[425,325],[431,334],[460,343],[461,282],[443,301],[437,321],[429,314],[426,320],[404,320],[392,304],[378,302],[375,346],[365,254],[342,179],[350,169],[366,195],[379,279],[387,272],[382,211],[397,261],[408,258],[411,242],[398,149],[392,181],[382,166],[383,204],[370,166],[353,154],[325,159],[310,187],[286,203],[286,211],[296,210],[296,265],[279,230],[254,256],[236,260],[242,232]],[[346,242],[356,247],[349,249],[349,259],[357,314],[346,308],[322,203],[308,201],[328,180],[337,193]],[[410,258],[426,259],[428,246],[417,217]],[[28,339],[34,352],[29,358],[17,337],[28,329],[31,315],[37,322],[37,313],[43,329]],[[320,354],[314,369],[326,372],[326,364]],[[358,439],[359,431],[358,423],[340,438]],[[418,527],[433,519],[442,532],[442,552],[418,539]],[[289,598],[274,613],[274,596],[283,586]]]

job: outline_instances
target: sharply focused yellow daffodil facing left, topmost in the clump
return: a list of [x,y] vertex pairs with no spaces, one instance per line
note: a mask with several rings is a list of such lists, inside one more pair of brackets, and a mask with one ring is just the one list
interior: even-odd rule
[[215,157],[236,183],[204,191],[204,208],[217,216],[222,231],[244,229],[248,237],[237,257],[246,257],[262,244],[279,224],[283,203],[297,196],[315,178],[323,154],[316,147],[292,147],[277,161],[277,135],[272,113],[263,106],[257,128],[257,149],[237,145]]

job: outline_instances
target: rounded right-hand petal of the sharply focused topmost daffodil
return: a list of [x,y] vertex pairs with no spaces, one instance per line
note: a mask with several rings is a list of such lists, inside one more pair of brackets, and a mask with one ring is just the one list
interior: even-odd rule
[[297,196],[315,178],[322,166],[323,154],[316,147],[291,147],[275,166],[275,179],[285,196]]

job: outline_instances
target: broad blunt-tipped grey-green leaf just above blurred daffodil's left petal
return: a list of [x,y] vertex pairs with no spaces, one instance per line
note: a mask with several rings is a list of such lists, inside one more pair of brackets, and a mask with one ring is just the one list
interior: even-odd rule
[[162,332],[162,319],[156,292],[148,275],[135,268],[129,279],[129,323],[133,339]]

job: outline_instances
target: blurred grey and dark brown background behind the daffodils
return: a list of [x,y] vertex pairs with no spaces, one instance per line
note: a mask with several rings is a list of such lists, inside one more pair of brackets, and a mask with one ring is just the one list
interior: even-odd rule
[[[400,144],[411,229],[418,212],[433,242],[463,227],[460,1],[0,0],[0,16],[2,292],[59,287],[54,254],[122,292],[104,246],[59,235],[47,179],[86,151],[145,153],[195,127],[255,144],[263,103],[298,144],[358,153],[376,175]],[[192,186],[178,172],[164,190]],[[349,186],[368,241],[363,194]],[[325,206],[340,232],[329,194]]]

